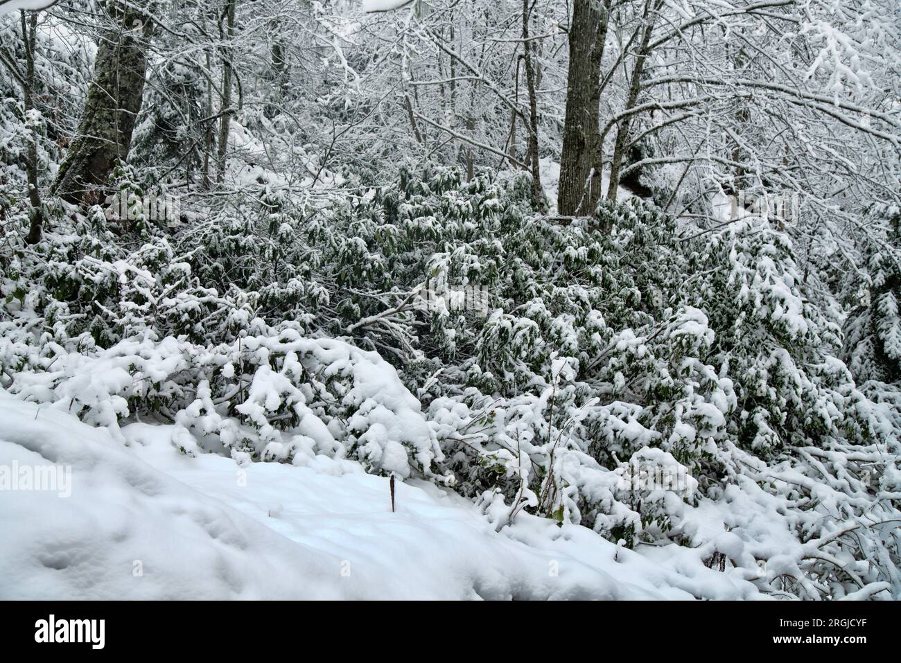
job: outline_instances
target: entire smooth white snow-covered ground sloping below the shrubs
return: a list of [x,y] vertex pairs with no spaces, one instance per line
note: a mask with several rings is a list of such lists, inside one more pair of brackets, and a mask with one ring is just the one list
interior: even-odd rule
[[132,423],[123,445],[0,391],[0,467],[71,468],[67,486],[0,490],[0,598],[753,595],[694,559],[652,561],[580,526],[521,513],[496,532],[430,484],[397,482],[392,513],[387,478],[349,460],[239,468],[216,453],[192,458],[173,430]]

